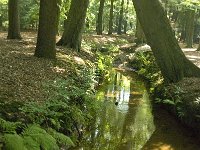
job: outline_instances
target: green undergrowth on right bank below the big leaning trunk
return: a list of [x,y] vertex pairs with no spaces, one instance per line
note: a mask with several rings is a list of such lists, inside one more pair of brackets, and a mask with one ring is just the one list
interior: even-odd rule
[[[154,103],[163,106],[186,124],[199,125],[199,89],[191,86],[194,79],[185,79],[176,84],[165,84],[152,51],[136,51],[131,57],[128,65],[149,82],[150,94]],[[197,81],[195,80],[195,82]],[[188,84],[187,87],[186,84]],[[187,88],[188,90],[186,90]],[[193,93],[191,93],[192,91]],[[195,93],[197,94],[195,95]]]

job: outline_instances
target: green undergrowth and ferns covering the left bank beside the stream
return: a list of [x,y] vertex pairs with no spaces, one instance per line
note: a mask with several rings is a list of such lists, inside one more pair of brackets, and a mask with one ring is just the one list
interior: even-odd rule
[[74,64],[67,75],[43,84],[50,93],[46,100],[0,100],[2,147],[53,150],[76,144],[98,110],[95,78],[93,66]]

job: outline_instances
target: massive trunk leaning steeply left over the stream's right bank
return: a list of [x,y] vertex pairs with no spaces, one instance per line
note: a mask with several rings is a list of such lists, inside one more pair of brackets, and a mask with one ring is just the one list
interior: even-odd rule
[[137,17],[166,82],[200,77],[200,69],[182,52],[159,0],[133,0]]

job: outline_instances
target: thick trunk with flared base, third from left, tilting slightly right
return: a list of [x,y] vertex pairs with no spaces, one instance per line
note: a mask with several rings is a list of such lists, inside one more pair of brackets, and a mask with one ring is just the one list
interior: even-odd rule
[[64,33],[58,41],[58,46],[67,46],[76,50],[81,49],[82,31],[89,0],[72,0]]

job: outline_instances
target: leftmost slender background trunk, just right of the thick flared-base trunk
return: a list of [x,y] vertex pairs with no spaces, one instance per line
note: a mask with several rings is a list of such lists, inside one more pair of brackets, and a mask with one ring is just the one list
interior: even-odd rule
[[102,35],[103,32],[103,9],[105,0],[100,0],[99,12],[97,17],[97,34]]

